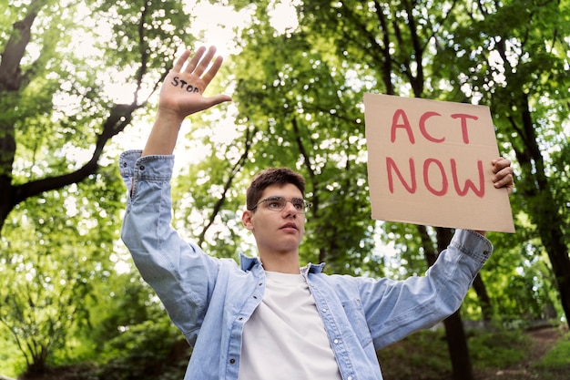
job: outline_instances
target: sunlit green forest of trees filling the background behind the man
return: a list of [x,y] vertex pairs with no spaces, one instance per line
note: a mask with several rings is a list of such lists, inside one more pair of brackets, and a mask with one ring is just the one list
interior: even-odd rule
[[567,328],[570,1],[0,5],[0,374],[180,378],[188,345],[119,240],[117,156],[142,148],[174,57],[210,43],[226,59],[208,91],[234,100],[184,124],[182,235],[219,257],[255,254],[245,187],[288,166],[312,202],[302,262],[421,275],[452,231],[370,218],[363,94],[481,104],[513,161],[516,233],[489,233],[492,259],[443,323],[449,376],[474,378],[465,326]]

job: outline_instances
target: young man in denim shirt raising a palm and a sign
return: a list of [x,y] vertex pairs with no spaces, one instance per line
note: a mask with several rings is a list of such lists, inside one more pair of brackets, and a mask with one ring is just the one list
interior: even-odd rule
[[[120,158],[122,239],[193,346],[185,379],[382,379],[376,350],[456,311],[492,244],[483,231],[456,231],[425,276],[402,282],[300,268],[304,180],[290,169],[264,170],[249,186],[242,221],[258,257],[238,265],[183,241],[170,225],[172,152],[184,118],[230,100],[202,97],[221,65],[214,55],[202,47],[178,58],[147,146]],[[511,190],[510,161],[491,164],[494,186]]]

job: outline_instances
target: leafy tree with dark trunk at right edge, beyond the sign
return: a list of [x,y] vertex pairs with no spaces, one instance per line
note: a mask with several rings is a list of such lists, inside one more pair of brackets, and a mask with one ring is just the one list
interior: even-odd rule
[[[564,128],[570,112],[566,55],[570,8],[558,1],[474,5],[464,8],[468,26],[451,30],[448,36],[453,37],[442,40],[455,52],[446,56],[459,71],[454,87],[467,87],[471,98],[491,107],[499,139],[514,150],[520,165],[517,195],[523,198],[524,212],[550,259],[570,324],[567,206],[559,197],[567,193],[568,177],[564,161],[549,157],[568,144]],[[518,9],[524,12],[514,12]],[[462,77],[464,72],[473,74]],[[540,250],[536,252],[540,255]]]

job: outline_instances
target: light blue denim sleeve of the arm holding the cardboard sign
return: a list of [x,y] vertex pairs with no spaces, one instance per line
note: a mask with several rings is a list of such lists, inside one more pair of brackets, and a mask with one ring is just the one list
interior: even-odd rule
[[459,309],[493,245],[475,231],[458,230],[424,276],[404,281],[361,279],[363,313],[376,349],[432,327]]

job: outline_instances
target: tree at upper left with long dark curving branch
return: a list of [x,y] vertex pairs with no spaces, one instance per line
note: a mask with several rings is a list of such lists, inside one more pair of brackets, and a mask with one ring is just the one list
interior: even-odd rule
[[[13,26],[0,26],[7,40],[0,62],[0,231],[17,204],[97,172],[108,141],[145,106],[188,40],[188,16],[173,1],[121,7],[33,0],[5,12]],[[95,24],[77,25],[88,12],[91,23],[107,25],[112,34],[97,36],[103,32]],[[74,34],[95,41],[87,56],[74,54]],[[105,90],[116,77],[132,88],[127,103]],[[73,149],[90,152],[89,159],[68,158]]]

